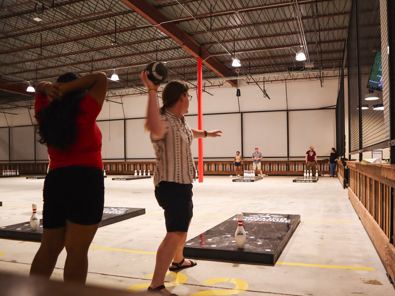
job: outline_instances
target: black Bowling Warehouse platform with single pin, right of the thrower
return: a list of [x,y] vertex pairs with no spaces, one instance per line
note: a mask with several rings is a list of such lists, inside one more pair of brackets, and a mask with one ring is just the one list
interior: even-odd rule
[[300,215],[244,213],[247,234],[237,249],[237,215],[186,242],[185,258],[274,265],[300,223]]

